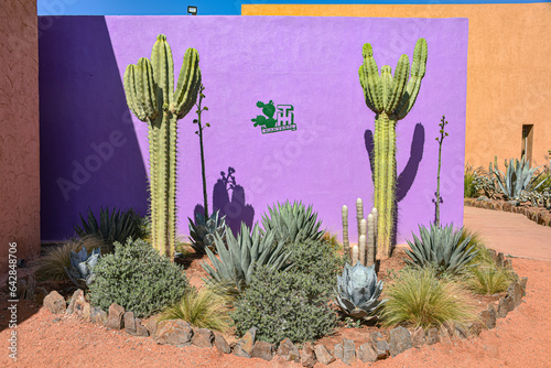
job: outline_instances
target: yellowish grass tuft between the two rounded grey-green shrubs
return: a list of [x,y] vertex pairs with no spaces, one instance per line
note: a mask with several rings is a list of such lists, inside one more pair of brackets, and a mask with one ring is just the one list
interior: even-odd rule
[[187,292],[180,302],[166,309],[158,321],[183,320],[195,327],[220,332],[229,329],[227,297],[217,295],[212,289]]

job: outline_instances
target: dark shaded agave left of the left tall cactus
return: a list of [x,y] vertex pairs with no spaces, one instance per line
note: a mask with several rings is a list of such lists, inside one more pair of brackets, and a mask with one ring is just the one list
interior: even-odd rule
[[128,237],[138,238],[140,228],[137,226],[140,220],[139,216],[132,210],[125,212],[109,207],[101,207],[99,210],[99,223],[94,216],[94,213],[88,208],[88,220],[80,216],[82,226],[75,225],[75,231],[80,237],[96,236],[104,240],[109,252],[112,251],[112,243],[119,241],[123,243]]

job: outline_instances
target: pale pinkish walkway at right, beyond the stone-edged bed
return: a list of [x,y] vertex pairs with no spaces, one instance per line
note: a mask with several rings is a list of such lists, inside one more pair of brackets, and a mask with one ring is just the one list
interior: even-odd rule
[[551,261],[551,227],[538,225],[525,215],[465,206],[463,225],[478,232],[488,248]]

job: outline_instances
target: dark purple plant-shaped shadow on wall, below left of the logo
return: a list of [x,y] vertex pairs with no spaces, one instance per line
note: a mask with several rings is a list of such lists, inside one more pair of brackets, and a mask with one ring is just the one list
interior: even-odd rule
[[[237,184],[235,169],[228,167],[228,173],[220,172],[220,178],[216,181],[213,188],[213,212],[219,210],[219,216],[226,216],[226,225],[234,235],[239,232],[241,223],[249,229],[255,220],[255,208],[246,204],[245,188]],[[231,198],[229,192],[231,191]],[[194,214],[203,213],[203,206],[196,205]]]

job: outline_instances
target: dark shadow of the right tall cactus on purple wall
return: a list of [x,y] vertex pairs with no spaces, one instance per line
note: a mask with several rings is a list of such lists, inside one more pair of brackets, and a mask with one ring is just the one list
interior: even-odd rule
[[[423,151],[424,151],[424,127],[418,122],[415,125],[415,128],[413,130],[413,139],[411,140],[411,148],[410,148],[410,158],[408,160],[408,163],[403,167],[402,172],[400,175],[398,175],[397,178],[397,185],[396,185],[396,203],[398,205],[399,202],[401,202],[408,192],[410,191],[411,186],[413,185],[413,182],[415,181],[417,173],[419,171],[419,163],[423,159]],[[374,167],[375,167],[375,158],[374,158],[374,133],[371,130],[367,129],[366,132],[364,133],[364,141],[366,144],[366,150],[369,155],[369,165],[371,167],[371,178],[375,180],[372,173],[374,173]],[[398,227],[398,206],[396,207],[397,212],[395,214],[395,228],[393,228],[393,238],[392,243],[396,243],[396,236],[397,236],[397,227]]]

